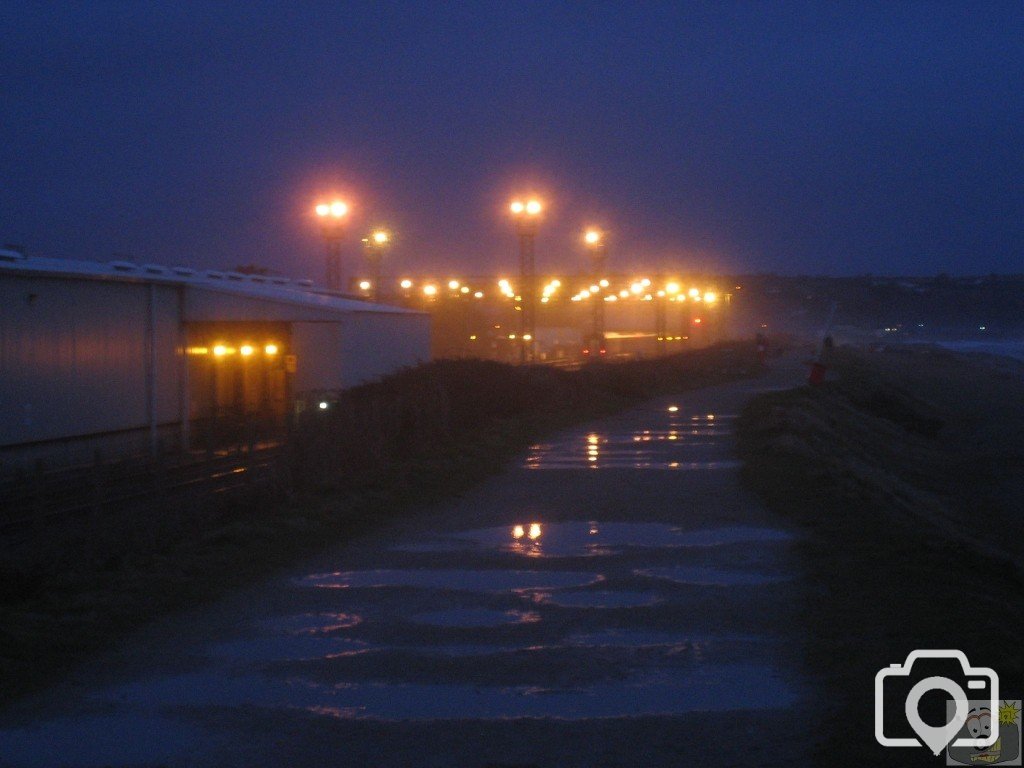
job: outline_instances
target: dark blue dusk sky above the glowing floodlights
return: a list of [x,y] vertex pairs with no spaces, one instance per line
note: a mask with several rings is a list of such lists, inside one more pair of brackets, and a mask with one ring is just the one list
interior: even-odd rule
[[[0,242],[322,272],[1024,271],[1024,4],[4,3]],[[353,253],[355,249],[353,248]]]

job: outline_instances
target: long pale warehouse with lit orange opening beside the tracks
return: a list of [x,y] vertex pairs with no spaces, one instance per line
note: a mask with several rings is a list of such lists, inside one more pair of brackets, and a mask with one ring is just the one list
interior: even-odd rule
[[429,315],[308,281],[0,250],[0,472],[280,434],[429,357]]

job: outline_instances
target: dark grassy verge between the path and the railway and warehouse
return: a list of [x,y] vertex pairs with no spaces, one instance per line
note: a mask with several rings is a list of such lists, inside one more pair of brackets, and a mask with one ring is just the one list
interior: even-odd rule
[[288,498],[155,505],[0,541],[0,691],[44,686],[159,614],[469,487],[545,433],[759,373],[737,343],[578,372],[442,360],[352,389],[296,425]]

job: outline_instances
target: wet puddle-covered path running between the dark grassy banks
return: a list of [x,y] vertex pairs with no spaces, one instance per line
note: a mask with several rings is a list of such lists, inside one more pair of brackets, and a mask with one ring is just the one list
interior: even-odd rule
[[732,435],[753,392],[792,380],[562,432],[461,499],[162,621],[5,716],[0,765],[800,760],[806,586]]

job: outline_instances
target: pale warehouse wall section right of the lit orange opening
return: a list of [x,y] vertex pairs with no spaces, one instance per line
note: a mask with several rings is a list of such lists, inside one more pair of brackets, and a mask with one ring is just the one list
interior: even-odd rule
[[430,317],[356,312],[339,323],[296,323],[294,390],[343,389],[430,359]]

